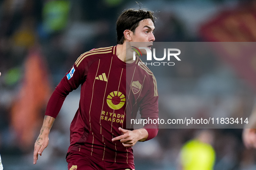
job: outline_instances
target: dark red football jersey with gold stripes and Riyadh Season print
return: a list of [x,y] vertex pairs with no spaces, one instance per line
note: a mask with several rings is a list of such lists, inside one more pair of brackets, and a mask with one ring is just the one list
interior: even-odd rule
[[[81,85],[79,108],[70,126],[70,147],[103,161],[133,164],[133,150],[111,139],[122,135],[119,127],[133,129],[126,119],[158,118],[156,79],[139,58],[128,64],[116,55],[116,46],[82,54],[55,88],[45,115],[56,117],[72,90]],[[151,129],[147,140],[156,136]]]

